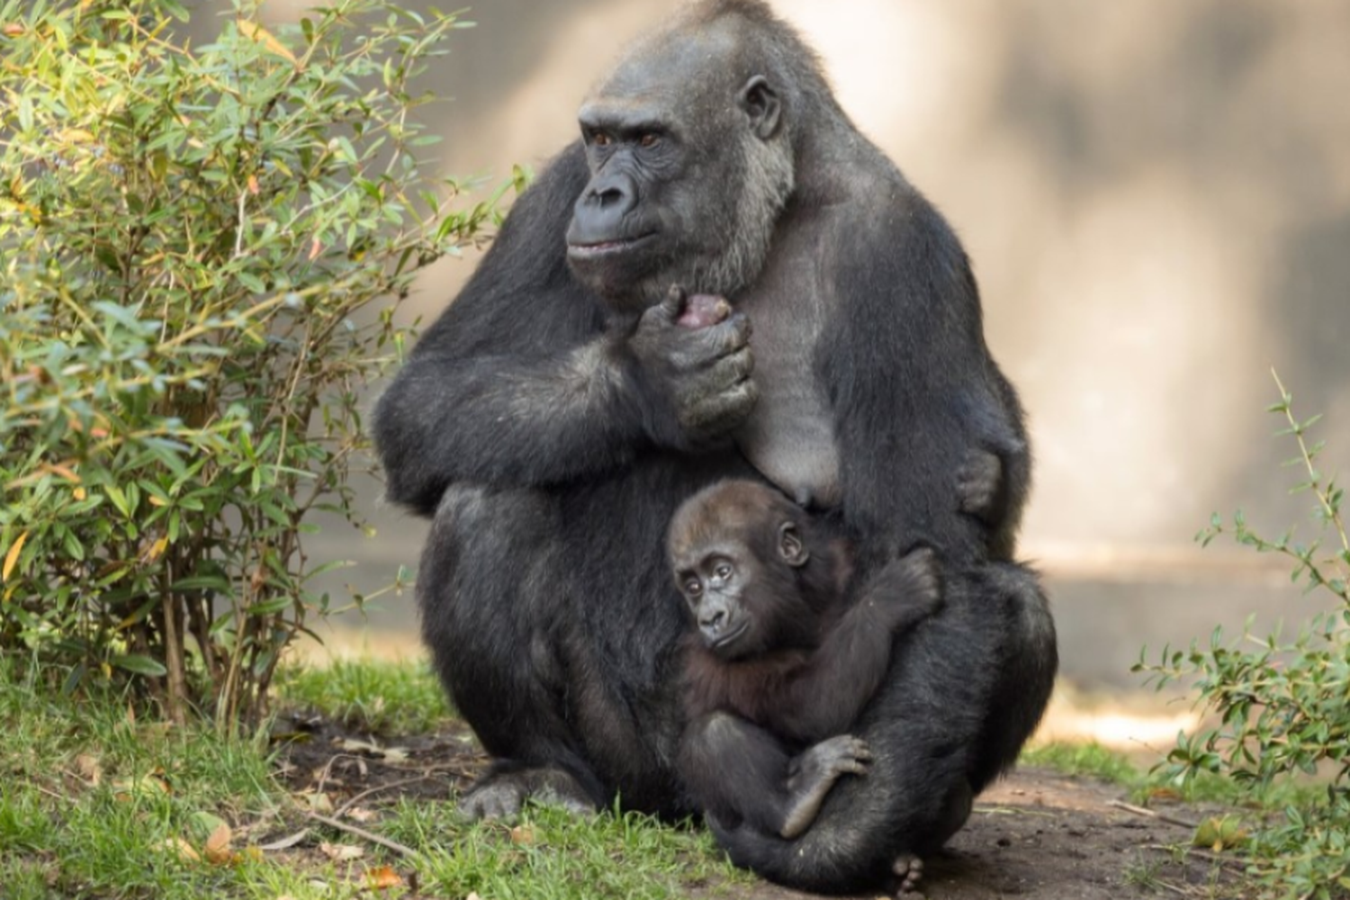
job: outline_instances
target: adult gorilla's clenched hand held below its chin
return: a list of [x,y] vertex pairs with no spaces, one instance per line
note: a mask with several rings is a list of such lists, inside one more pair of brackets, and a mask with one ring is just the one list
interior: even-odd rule
[[671,287],[666,300],[643,313],[628,349],[637,362],[640,390],[668,412],[648,422],[652,440],[701,449],[745,421],[759,390],[751,381],[749,318],[733,313],[725,321],[688,328],[680,324],[687,302],[683,287]]

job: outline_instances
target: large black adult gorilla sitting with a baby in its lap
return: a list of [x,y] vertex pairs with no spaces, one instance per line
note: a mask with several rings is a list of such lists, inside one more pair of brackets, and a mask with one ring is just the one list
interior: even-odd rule
[[[944,564],[944,609],[855,729],[869,775],[795,841],[718,828],[778,881],[872,884],[964,823],[1056,667],[1008,561],[1027,449],[965,255],[759,0],[684,9],[580,123],[375,412],[390,498],[435,515],[424,637],[497,758],[462,807],[688,811],[663,537],[699,487],[757,474],[855,536],[853,590],[915,545]],[[684,291],[736,312],[686,327]],[[967,466],[981,449],[1002,471]],[[980,483],[995,521],[956,499]]]

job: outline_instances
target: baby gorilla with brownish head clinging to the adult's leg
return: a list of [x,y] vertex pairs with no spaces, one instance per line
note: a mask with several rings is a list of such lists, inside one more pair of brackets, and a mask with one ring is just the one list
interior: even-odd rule
[[867,745],[846,731],[890,667],[892,637],[942,602],[933,553],[883,567],[845,604],[848,542],[748,480],[684,502],[668,551],[698,626],[684,641],[680,776],[725,826],[794,838],[841,776],[867,770]]

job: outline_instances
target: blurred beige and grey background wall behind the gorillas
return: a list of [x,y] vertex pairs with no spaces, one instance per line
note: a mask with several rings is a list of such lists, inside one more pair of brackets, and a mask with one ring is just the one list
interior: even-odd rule
[[[1065,673],[1137,685],[1145,642],[1316,609],[1281,563],[1192,537],[1239,506],[1272,536],[1316,530],[1280,468],[1295,447],[1262,412],[1272,366],[1303,417],[1326,413],[1324,468],[1350,461],[1350,4],[774,5],[975,262],[988,343],[1031,417],[1023,553],[1048,573]],[[425,80],[452,99],[427,111],[444,174],[486,194],[512,163],[540,169],[618,50],[672,8],[482,0]],[[408,317],[433,316],[471,266],[437,264]],[[367,495],[379,536],[331,528],[315,553],[358,561],[338,587],[416,564],[423,524]],[[406,594],[370,614],[410,650],[413,621]]]

